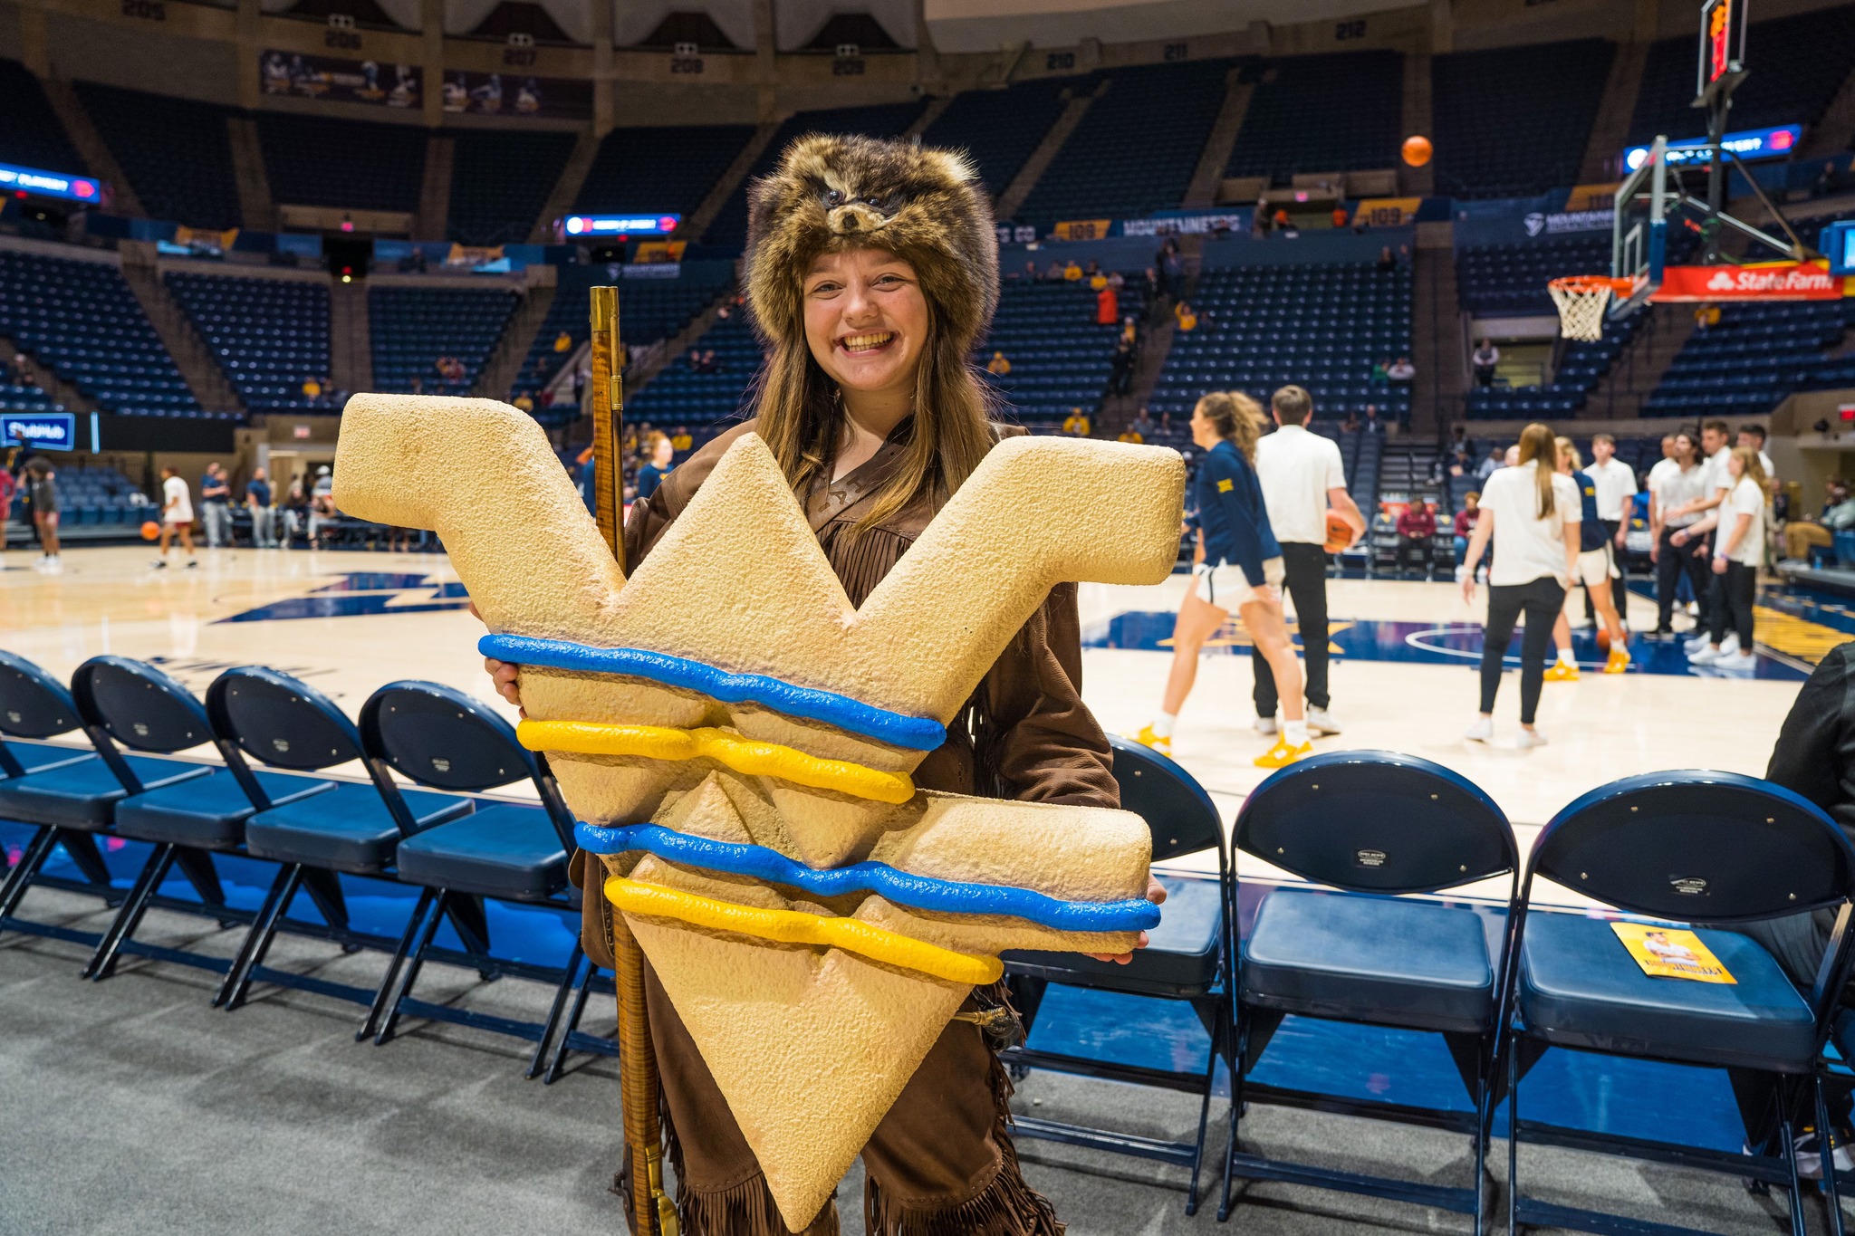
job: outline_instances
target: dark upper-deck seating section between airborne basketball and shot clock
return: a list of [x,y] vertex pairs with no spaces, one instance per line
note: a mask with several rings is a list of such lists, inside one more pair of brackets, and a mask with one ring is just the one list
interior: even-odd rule
[[1430,61],[1436,191],[1514,198],[1573,183],[1614,56],[1608,39],[1577,39]]

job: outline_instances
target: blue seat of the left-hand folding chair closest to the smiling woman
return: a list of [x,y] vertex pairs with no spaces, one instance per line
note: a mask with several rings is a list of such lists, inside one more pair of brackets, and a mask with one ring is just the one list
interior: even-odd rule
[[568,882],[547,812],[499,802],[399,843],[399,878],[479,897],[545,901]]

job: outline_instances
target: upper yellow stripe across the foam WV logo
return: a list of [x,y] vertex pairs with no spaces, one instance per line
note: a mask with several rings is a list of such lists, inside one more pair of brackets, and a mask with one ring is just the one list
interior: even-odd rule
[[877,802],[907,802],[915,780],[907,773],[883,773],[824,760],[792,747],[742,738],[701,726],[675,730],[662,725],[603,725],[595,721],[523,721],[516,736],[529,750],[571,750],[582,756],[644,756],[647,760],[697,760],[707,756],[749,776],[777,776],[812,789],[835,789]]

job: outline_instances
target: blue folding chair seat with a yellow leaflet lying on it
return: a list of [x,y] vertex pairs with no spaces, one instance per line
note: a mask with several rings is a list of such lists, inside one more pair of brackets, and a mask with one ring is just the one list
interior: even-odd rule
[[1603,919],[1527,915],[1519,1012],[1564,1047],[1807,1073],[1816,1021],[1783,967],[1749,936],[1697,928],[1733,984],[1651,978]]

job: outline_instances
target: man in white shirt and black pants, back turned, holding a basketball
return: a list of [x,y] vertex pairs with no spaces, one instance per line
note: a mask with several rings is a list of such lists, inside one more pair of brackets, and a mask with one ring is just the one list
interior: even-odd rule
[[[1256,478],[1269,508],[1269,526],[1282,545],[1287,569],[1284,591],[1295,602],[1300,654],[1308,678],[1308,732],[1339,734],[1326,691],[1326,513],[1334,510],[1352,539],[1365,534],[1365,517],[1347,495],[1347,471],[1339,445],[1308,432],[1313,398],[1298,385],[1286,385],[1269,400],[1276,432],[1256,443]],[[1256,730],[1276,732],[1276,682],[1269,658],[1254,649]]]

